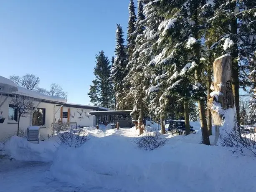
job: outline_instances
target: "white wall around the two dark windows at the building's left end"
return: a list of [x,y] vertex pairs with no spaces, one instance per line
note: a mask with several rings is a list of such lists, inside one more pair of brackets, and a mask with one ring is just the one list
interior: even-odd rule
[[[5,96],[0,96],[0,104],[5,99]],[[8,120],[8,113],[9,113],[9,104],[11,101],[11,97],[5,101],[3,106],[0,107],[0,111],[3,111],[3,117],[5,117],[4,123],[0,124],[0,141],[6,140],[8,137],[17,134],[18,122]],[[34,101],[34,106],[38,104],[37,101]],[[40,126],[40,135],[41,139],[48,139],[48,135],[52,134],[52,126],[53,123],[53,104],[48,103],[41,103],[39,104],[38,108],[46,109],[45,114],[45,125]],[[57,108],[57,107],[56,107]],[[21,117],[20,118],[20,130],[26,131],[27,127],[30,125],[30,117]]]

